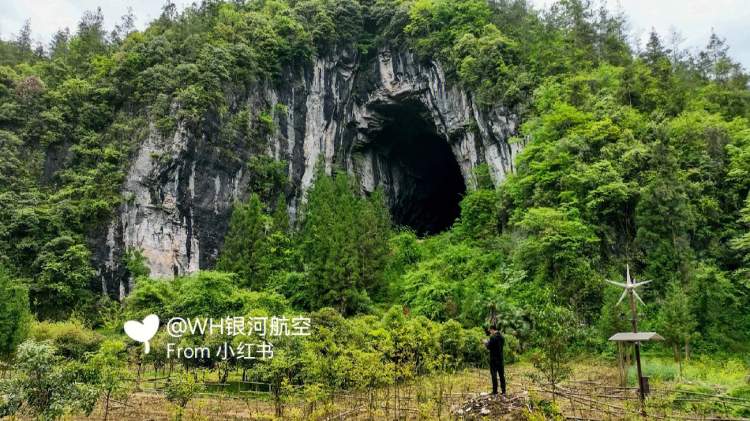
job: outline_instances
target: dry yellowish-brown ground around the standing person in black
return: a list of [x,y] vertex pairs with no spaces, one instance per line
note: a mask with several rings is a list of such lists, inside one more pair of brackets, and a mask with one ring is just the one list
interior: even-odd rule
[[[608,362],[577,361],[571,380],[556,389],[551,404],[549,385],[532,381],[531,365],[505,368],[508,395],[488,395],[489,372],[470,368],[452,375],[422,378],[410,385],[367,392],[340,391],[333,400],[311,404],[302,396],[288,398],[276,407],[268,395],[249,398],[203,394],[194,398],[182,413],[182,421],[219,421],[245,419],[290,419],[293,421],[423,421],[437,419],[551,419],[544,413],[558,413],[562,419],[643,419],[634,388],[621,385],[616,367]],[[145,383],[148,387],[148,383]],[[673,398],[672,398],[673,399]],[[647,400],[649,419],[730,419],[721,408],[703,405],[702,413],[694,410],[669,411],[669,399],[658,392]],[[673,404],[673,401],[671,401]],[[659,405],[662,405],[661,407]],[[281,410],[278,416],[277,410]],[[169,421],[177,419],[178,408],[157,392],[133,392],[127,401],[110,405],[108,419],[122,421]],[[562,413],[560,414],[560,411]],[[559,415],[557,419],[559,418]],[[19,418],[26,419],[26,418]],[[90,416],[71,416],[66,420],[104,419],[104,402]]]

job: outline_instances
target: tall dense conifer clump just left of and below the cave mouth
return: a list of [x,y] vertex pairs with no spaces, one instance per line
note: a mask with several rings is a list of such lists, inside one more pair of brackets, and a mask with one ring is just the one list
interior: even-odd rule
[[359,199],[353,182],[346,173],[328,176],[320,159],[299,233],[312,307],[344,314],[368,305],[380,287],[392,235],[383,195]]

